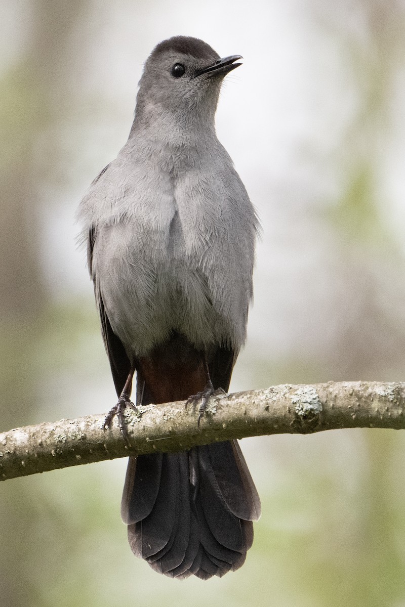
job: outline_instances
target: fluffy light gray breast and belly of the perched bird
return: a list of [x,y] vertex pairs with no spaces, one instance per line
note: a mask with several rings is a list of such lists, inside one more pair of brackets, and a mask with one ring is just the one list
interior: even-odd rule
[[123,171],[112,166],[84,199],[97,229],[92,278],[130,358],[172,331],[198,348],[239,350],[245,340],[255,218],[223,158],[223,166],[183,165],[177,176],[138,163],[124,172],[131,180],[118,200],[109,192]]

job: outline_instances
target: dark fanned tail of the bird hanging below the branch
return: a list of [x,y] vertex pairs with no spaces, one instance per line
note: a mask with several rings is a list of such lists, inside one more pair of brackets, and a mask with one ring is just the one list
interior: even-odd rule
[[132,552],[170,577],[243,565],[260,500],[237,441],[129,459],[121,504]]

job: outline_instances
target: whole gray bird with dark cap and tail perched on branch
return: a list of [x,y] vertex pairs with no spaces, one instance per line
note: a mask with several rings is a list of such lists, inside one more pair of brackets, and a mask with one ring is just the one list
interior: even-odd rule
[[[131,404],[199,403],[228,390],[246,336],[257,219],[214,127],[239,66],[197,38],[155,47],[118,157],[79,218],[123,430]],[[260,500],[237,441],[131,457],[121,515],[132,552],[171,577],[238,569]]]

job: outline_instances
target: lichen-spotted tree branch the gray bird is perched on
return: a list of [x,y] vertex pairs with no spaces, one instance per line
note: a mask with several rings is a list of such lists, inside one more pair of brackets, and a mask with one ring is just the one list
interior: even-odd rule
[[279,385],[209,399],[200,428],[184,402],[126,409],[128,438],[105,415],[61,419],[0,433],[0,479],[138,453],[176,452],[215,441],[340,428],[405,429],[405,383]]

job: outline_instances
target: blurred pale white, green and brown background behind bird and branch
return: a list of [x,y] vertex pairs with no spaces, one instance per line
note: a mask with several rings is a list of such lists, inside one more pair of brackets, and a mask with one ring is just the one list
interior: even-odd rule
[[[405,379],[403,0],[1,0],[0,429],[115,401],[74,215],[126,141],[143,61],[176,34],[244,65],[217,132],[263,227],[233,390]],[[405,606],[405,438],[242,441],[247,562],[176,582],[135,559],[126,462],[0,486],[2,607]]]

